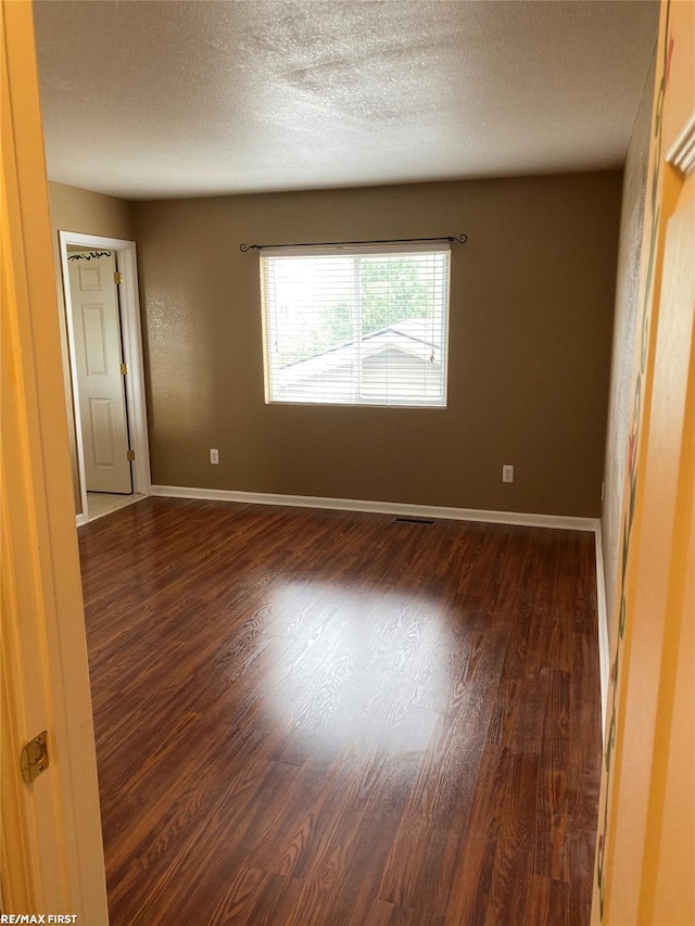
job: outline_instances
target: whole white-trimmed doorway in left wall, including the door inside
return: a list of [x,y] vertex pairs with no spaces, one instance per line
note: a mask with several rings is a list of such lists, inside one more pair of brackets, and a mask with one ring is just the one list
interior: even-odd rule
[[150,494],[136,245],[61,231],[78,527]]

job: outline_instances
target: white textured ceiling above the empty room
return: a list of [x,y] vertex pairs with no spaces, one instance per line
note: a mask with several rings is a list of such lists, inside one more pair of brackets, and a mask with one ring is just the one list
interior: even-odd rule
[[131,199],[622,164],[658,4],[38,0],[49,176]]

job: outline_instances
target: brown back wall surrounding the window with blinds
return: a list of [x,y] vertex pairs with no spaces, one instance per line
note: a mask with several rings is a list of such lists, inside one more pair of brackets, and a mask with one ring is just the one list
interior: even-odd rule
[[[134,203],[153,482],[597,516],[620,195],[608,172]],[[464,231],[448,408],[265,405],[241,242]]]

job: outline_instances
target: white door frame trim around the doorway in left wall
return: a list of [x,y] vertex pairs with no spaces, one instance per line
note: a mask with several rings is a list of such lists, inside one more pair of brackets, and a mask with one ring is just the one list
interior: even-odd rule
[[138,263],[135,241],[121,238],[102,238],[97,234],[84,234],[77,231],[59,231],[61,268],[63,271],[63,293],[65,295],[65,321],[67,327],[67,347],[70,354],[70,375],[73,390],[73,418],[75,421],[75,446],[77,451],[77,477],[81,513],[76,516],[77,527],[89,521],[87,506],[87,482],[85,479],[85,447],[79,415],[79,383],[75,355],[75,327],[73,325],[73,302],[70,287],[70,265],[67,263],[70,245],[94,251],[115,251],[118,272],[123,282],[118,287],[121,305],[121,333],[123,340],[123,361],[128,366],[125,378],[126,409],[130,448],[135,451],[132,461],[134,495],[150,495],[152,477],[150,473],[150,445],[148,439],[147,405],[144,396],[144,365],[142,360],[142,333],[140,326],[140,297],[138,294]]

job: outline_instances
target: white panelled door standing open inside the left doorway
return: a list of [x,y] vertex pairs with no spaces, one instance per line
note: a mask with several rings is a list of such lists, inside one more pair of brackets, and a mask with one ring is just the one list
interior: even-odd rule
[[114,252],[68,255],[88,492],[132,492]]

